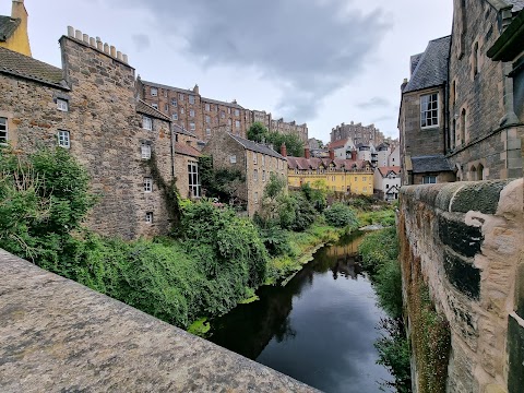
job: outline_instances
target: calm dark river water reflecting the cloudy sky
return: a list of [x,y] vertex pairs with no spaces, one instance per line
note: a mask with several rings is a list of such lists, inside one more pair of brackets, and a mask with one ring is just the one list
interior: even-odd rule
[[285,287],[212,321],[212,342],[325,392],[376,393],[392,380],[376,364],[384,312],[354,255],[361,236],[321,249]]

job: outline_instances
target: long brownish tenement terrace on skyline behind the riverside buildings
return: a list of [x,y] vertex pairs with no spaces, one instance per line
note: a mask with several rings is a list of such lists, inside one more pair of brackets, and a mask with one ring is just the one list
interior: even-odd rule
[[295,134],[302,142],[308,141],[308,126],[286,122],[283,118],[273,120],[271,114],[249,110],[236,100],[231,103],[205,98],[199,86],[192,90],[167,86],[139,78],[138,91],[141,98],[170,117],[172,122],[193,132],[201,141],[207,142],[219,130],[246,138],[253,122],[261,122],[270,132]]

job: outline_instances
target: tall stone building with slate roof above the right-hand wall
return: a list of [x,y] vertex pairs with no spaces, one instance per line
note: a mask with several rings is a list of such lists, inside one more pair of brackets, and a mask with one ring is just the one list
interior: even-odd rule
[[522,46],[507,59],[514,69],[487,55],[523,7],[455,0],[452,35],[412,57],[398,118],[403,183],[522,177]]

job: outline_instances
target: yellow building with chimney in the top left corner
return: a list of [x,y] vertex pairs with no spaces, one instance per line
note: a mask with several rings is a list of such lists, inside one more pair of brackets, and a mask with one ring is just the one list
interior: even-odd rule
[[13,0],[11,16],[0,15],[0,47],[31,56],[24,0]]

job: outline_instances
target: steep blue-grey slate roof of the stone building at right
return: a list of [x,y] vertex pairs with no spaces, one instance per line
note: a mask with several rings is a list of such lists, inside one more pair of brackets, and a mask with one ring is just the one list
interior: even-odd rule
[[448,80],[451,36],[430,40],[403,93],[440,86]]

